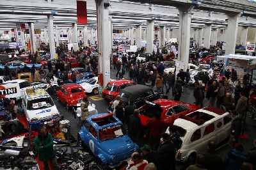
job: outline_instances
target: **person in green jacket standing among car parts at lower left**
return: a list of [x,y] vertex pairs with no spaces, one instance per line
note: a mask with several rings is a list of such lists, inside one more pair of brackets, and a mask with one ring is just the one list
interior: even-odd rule
[[48,133],[45,128],[38,130],[38,136],[35,138],[35,148],[38,153],[38,159],[44,162],[45,170],[49,170],[48,161],[51,162],[54,170],[59,169],[56,153],[53,150],[52,134]]

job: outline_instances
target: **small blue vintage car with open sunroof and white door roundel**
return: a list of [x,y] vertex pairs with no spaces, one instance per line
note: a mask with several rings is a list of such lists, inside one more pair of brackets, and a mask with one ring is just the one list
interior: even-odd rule
[[80,146],[95,155],[97,164],[104,169],[122,166],[134,151],[139,150],[113,113],[88,117],[77,139]]

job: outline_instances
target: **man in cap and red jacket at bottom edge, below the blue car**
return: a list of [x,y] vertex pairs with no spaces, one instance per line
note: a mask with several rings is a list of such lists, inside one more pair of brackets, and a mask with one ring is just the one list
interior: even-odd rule
[[133,164],[129,164],[129,167],[127,168],[130,170],[137,170],[137,169],[142,170],[148,164],[147,160],[144,160],[141,157],[140,153],[138,153],[138,152],[132,153],[131,160],[132,160]]

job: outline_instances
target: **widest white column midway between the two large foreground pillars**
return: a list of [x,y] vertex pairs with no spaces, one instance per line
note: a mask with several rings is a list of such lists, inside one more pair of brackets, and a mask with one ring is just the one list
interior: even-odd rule
[[147,20],[147,52],[153,52],[155,20]]

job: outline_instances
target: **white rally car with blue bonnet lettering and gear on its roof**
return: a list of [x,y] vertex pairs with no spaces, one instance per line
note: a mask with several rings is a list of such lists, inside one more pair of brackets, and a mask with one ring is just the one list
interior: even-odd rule
[[22,108],[32,130],[43,127],[45,122],[56,120],[60,112],[51,96],[44,89],[27,88],[22,98]]

